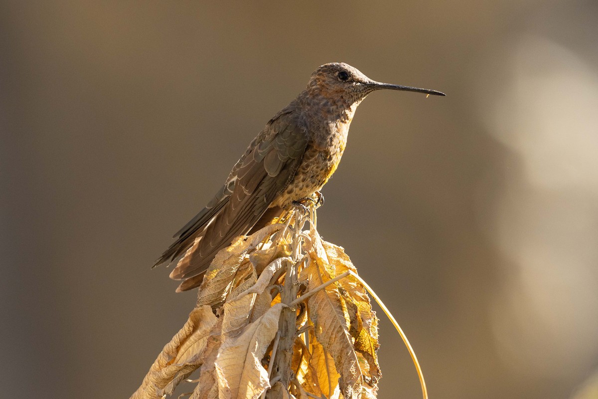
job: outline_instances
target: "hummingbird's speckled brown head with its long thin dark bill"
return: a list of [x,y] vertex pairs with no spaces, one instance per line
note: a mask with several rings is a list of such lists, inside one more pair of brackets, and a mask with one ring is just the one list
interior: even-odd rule
[[436,90],[419,89],[417,87],[399,86],[398,84],[380,83],[371,80],[357,68],[343,62],[324,64],[316,69],[307,84],[307,92],[319,95],[331,103],[339,100],[347,106],[359,103],[374,90],[407,90],[428,95],[444,96]]

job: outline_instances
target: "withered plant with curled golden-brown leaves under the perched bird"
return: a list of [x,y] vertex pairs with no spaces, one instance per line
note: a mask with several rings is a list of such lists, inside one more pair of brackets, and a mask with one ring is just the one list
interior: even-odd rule
[[216,255],[188,321],[131,398],[173,394],[194,371],[191,399],[376,398],[367,290],[344,249],[321,239],[315,208],[294,209]]

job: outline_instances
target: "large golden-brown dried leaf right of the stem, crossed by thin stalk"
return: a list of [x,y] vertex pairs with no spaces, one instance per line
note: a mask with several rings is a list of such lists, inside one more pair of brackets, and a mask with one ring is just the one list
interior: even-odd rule
[[[309,281],[308,290],[347,270],[355,273],[355,266],[340,246],[323,242],[315,229],[310,229],[309,236],[306,250],[312,262],[303,273]],[[341,375],[344,396],[358,397],[364,383],[376,388],[380,378],[377,318],[365,288],[347,276],[316,293],[308,304],[316,337],[334,358]]]

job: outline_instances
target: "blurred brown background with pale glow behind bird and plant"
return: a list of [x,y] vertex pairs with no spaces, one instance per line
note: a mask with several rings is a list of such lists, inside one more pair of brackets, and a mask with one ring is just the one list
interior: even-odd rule
[[[597,20],[592,0],[2,1],[2,397],[135,391],[196,299],[149,267],[337,61],[447,93],[362,103],[318,226],[431,398],[590,397]],[[379,315],[379,396],[420,397]]]

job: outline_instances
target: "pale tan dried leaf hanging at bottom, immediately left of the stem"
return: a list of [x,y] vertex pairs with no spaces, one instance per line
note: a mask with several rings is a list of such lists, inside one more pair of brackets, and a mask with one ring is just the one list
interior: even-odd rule
[[216,358],[219,398],[255,399],[270,388],[261,360],[276,335],[282,308],[283,304],[271,307],[239,336],[222,343]]

